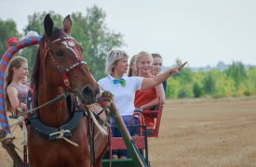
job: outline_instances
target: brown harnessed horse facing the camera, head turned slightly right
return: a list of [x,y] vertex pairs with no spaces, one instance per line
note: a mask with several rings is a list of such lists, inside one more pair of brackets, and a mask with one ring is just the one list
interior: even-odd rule
[[[83,104],[94,103],[99,95],[99,86],[83,61],[83,48],[70,36],[72,32],[70,17],[63,20],[63,29],[59,29],[54,27],[52,19],[47,15],[44,19],[44,28],[45,34],[39,45],[32,76],[37,105],[44,105],[56,96],[63,95],[67,90],[78,96],[77,101]],[[88,119],[83,117],[82,121],[77,123],[80,118],[73,119],[69,106],[66,100],[60,100],[37,109],[38,115],[35,119],[31,119],[31,125],[28,125],[30,166],[92,165]],[[74,127],[75,123],[77,125]],[[61,128],[62,125],[73,126],[74,129],[71,130],[72,132],[65,132],[65,128]],[[58,134],[56,130],[63,131]],[[78,147],[60,138],[61,136],[66,136],[71,142],[78,144]],[[104,144],[102,148],[106,148],[106,145]],[[95,150],[96,164],[99,166],[101,166],[102,151],[105,150]]]

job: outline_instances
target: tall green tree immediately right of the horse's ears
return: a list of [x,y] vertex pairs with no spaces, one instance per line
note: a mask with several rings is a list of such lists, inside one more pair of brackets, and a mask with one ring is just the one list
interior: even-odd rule
[[113,47],[119,47],[124,42],[121,33],[112,32],[106,27],[106,14],[101,8],[93,6],[87,9],[87,13],[86,17],[83,17],[81,13],[76,14],[76,16],[79,16],[79,18],[76,17],[78,20],[75,21],[79,24],[76,29],[80,33],[83,31],[84,40],[82,45],[85,48],[85,59],[93,71],[93,76],[100,79],[105,75],[106,54]]

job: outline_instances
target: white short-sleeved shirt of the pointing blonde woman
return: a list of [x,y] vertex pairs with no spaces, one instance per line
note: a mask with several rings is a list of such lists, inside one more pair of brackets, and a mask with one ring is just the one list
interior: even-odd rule
[[135,91],[141,90],[142,77],[128,77],[123,75],[123,79],[126,80],[126,86],[122,86],[121,83],[114,83],[114,77],[108,75],[102,78],[98,83],[105,91],[110,91],[114,95],[115,105],[120,112],[120,115],[132,115],[134,113],[134,98]]

